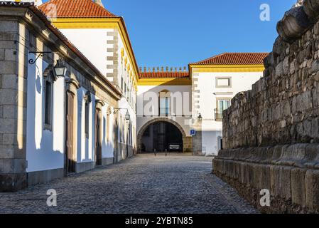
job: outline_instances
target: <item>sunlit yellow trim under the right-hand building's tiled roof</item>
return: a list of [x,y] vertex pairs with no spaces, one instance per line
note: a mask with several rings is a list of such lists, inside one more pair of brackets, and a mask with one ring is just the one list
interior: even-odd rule
[[195,72],[262,72],[264,65],[190,65]]

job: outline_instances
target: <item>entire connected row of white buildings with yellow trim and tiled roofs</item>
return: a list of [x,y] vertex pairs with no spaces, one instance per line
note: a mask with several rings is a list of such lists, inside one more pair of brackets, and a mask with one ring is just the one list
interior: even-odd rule
[[2,191],[139,152],[217,155],[222,110],[264,71],[267,53],[141,69],[124,19],[101,1],[0,1],[0,8]]

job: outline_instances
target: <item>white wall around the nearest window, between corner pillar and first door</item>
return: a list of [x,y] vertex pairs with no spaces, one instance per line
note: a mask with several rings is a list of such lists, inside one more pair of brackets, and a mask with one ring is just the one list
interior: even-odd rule
[[[34,55],[30,54],[29,59]],[[38,58],[28,65],[26,172],[63,168],[65,152],[65,82],[53,83],[52,131],[43,130],[43,71],[48,63]]]

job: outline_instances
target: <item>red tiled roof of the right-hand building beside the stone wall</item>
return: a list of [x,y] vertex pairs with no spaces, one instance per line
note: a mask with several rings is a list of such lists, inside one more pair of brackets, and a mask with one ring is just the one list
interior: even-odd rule
[[191,65],[259,65],[269,53],[222,53]]

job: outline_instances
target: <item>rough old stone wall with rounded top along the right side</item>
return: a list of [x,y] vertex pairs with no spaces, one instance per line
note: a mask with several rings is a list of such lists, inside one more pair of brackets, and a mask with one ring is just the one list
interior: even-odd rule
[[[224,113],[214,172],[263,212],[319,212],[318,15],[318,0],[286,12],[264,77]],[[260,207],[262,189],[271,207]]]

